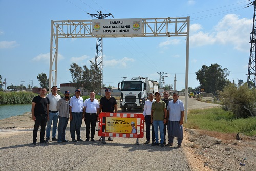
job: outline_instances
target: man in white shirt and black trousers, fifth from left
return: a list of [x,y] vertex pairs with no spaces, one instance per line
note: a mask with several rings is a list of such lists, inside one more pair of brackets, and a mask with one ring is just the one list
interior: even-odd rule
[[94,140],[95,127],[97,120],[99,120],[99,101],[95,99],[95,93],[90,93],[90,98],[84,100],[83,103],[83,119],[86,122],[86,141],[89,141],[90,138],[90,125],[91,128],[91,141]]

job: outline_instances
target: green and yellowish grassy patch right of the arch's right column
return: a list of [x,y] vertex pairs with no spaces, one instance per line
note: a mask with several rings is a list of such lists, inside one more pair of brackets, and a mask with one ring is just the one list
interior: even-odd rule
[[256,135],[256,118],[241,118],[222,108],[189,110],[187,123],[184,127],[217,131],[221,133],[243,133],[248,136]]

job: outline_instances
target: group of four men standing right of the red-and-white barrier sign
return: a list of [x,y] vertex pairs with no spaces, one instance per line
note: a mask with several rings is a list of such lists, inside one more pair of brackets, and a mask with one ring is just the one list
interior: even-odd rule
[[[169,93],[164,92],[164,98],[160,100],[160,93],[148,93],[143,115],[146,123],[146,142],[150,143],[150,126],[152,127],[152,145],[159,145],[158,131],[160,132],[160,146],[172,146],[174,137],[177,137],[178,148],[181,148],[183,140],[184,104],[178,99],[178,93],[173,93],[173,99]],[[166,143],[166,128],[168,127],[168,143]]]

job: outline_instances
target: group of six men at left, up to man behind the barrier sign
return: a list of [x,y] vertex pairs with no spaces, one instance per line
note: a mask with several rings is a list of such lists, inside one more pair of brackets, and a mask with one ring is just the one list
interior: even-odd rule
[[[37,141],[37,131],[41,126],[40,131],[40,143],[48,143],[50,141],[50,131],[52,128],[52,141],[58,143],[68,142],[65,139],[65,130],[70,119],[70,135],[73,142],[83,141],[81,139],[81,125],[82,120],[86,124],[86,141],[94,140],[95,127],[99,119],[99,113],[101,112],[117,112],[117,102],[114,97],[111,96],[109,89],[105,90],[105,96],[100,99],[100,103],[95,99],[95,93],[90,92],[90,98],[83,101],[80,96],[80,89],[76,89],[75,96],[69,97],[70,92],[65,91],[64,97],[61,98],[57,94],[57,86],[53,86],[51,93],[46,95],[46,88],[40,90],[40,95],[36,96],[32,100],[32,119],[35,121],[33,130],[33,143]],[[58,124],[59,122],[59,124]],[[47,124],[47,129],[46,129]],[[56,137],[58,124],[58,136]],[[91,127],[91,135],[90,135]],[[46,140],[45,137],[46,131]],[[75,139],[75,135],[77,140]],[[104,144],[105,137],[99,139]],[[109,141],[113,141],[111,137]]]

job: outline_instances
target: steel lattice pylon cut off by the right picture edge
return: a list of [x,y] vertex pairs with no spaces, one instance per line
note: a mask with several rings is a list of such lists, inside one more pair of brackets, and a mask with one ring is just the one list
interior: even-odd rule
[[[251,44],[251,49],[250,49],[250,59],[249,59],[249,63],[248,63],[248,73],[247,73],[247,84],[248,86],[253,86],[254,88],[256,88],[256,65],[255,65],[255,61],[256,61],[256,15],[255,15],[255,9],[256,9],[256,1],[250,2],[247,4],[246,7],[247,8],[249,6],[254,6],[254,14],[253,14],[253,24],[252,24],[252,31],[251,31],[251,38],[250,38],[250,44]],[[251,83],[253,83],[253,85],[251,85]]]

